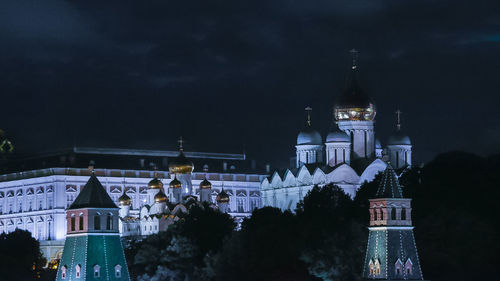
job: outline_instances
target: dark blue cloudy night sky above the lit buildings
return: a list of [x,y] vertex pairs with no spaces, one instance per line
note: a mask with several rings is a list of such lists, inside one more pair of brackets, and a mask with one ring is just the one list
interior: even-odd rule
[[243,152],[287,165],[326,136],[359,50],[382,143],[416,163],[500,152],[500,1],[26,1],[0,6],[0,128],[19,152]]

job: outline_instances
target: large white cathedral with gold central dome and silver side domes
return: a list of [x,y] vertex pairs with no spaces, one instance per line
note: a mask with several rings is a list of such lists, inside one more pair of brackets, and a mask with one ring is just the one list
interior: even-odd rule
[[358,82],[356,51],[345,90],[333,108],[332,128],[325,139],[313,128],[311,108],[296,142],[295,166],[275,171],[261,183],[263,206],[294,210],[314,185],[333,183],[354,197],[365,181],[386,169],[385,154],[394,168],[402,171],[411,166],[412,144],[401,130],[400,111],[395,132],[383,147],[375,134],[377,114],[373,100]]

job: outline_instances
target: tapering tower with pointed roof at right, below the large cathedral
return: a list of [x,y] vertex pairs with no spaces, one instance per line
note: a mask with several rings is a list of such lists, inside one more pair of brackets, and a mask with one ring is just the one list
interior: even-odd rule
[[363,278],[422,280],[422,270],[411,224],[411,199],[403,198],[390,164],[374,199],[370,199],[370,234]]

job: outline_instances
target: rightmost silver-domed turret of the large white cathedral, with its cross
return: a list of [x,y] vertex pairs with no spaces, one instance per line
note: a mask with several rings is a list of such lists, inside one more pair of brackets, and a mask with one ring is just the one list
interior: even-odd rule
[[389,137],[387,152],[394,168],[400,169],[411,166],[411,141],[410,137],[401,132],[401,111],[398,109],[396,132]]

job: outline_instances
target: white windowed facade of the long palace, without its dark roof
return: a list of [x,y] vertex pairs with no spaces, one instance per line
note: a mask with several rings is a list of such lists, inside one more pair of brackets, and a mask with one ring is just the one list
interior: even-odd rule
[[[149,202],[148,183],[155,173],[166,185],[172,180],[169,171],[95,169],[99,181],[117,205],[123,193],[130,198],[128,215],[136,218]],[[88,168],[45,168],[0,175],[0,233],[16,228],[28,230],[40,241],[48,260],[60,258],[67,232],[65,210],[89,176]],[[238,173],[229,168],[220,172],[195,171],[190,175],[191,194],[199,198],[200,183],[210,180],[213,202],[224,188],[230,198],[228,213],[241,220],[261,207],[260,182],[265,177],[265,174]],[[137,232],[132,230],[123,234],[135,235]],[[149,233],[140,233],[143,234]]]

